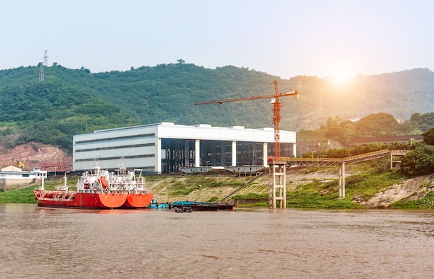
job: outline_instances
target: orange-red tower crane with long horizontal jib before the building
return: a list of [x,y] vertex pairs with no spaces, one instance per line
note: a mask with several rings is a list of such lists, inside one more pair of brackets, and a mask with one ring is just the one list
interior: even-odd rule
[[205,102],[195,102],[194,105],[207,105],[207,104],[223,104],[223,102],[238,102],[238,101],[244,101],[244,100],[259,100],[259,99],[266,99],[270,98],[271,103],[273,104],[272,111],[272,123],[275,127],[275,158],[280,158],[280,110],[281,103],[279,102],[279,98],[281,97],[287,97],[287,96],[294,96],[294,99],[299,99],[300,94],[298,91],[289,91],[285,93],[279,93],[279,89],[277,89],[278,82],[274,80],[272,82],[275,86],[275,93],[270,95],[263,95],[263,96],[252,96],[252,97],[246,97],[246,98],[234,98],[234,99],[227,99],[227,100],[213,100],[213,101],[205,101]]

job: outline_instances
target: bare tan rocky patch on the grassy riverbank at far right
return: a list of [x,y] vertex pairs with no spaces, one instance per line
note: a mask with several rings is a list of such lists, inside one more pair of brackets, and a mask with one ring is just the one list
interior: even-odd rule
[[[388,208],[394,201],[422,199],[433,188],[433,175],[427,174],[394,184],[388,189],[377,192],[369,200],[362,201],[361,204],[366,208]],[[354,197],[353,200],[357,201],[357,197]]]

